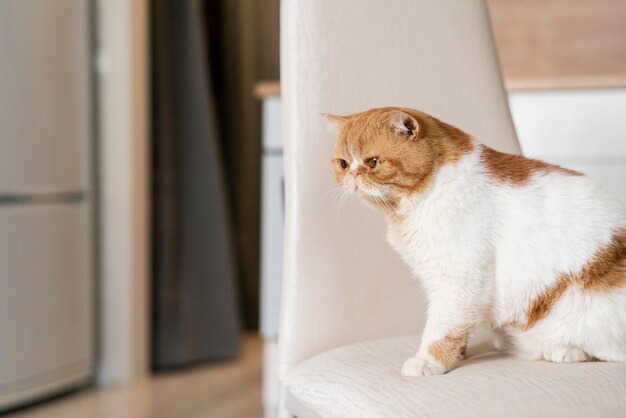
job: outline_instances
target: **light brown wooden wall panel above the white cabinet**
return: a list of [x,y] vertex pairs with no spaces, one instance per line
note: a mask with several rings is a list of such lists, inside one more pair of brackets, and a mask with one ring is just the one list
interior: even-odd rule
[[488,0],[509,89],[626,86],[626,0]]

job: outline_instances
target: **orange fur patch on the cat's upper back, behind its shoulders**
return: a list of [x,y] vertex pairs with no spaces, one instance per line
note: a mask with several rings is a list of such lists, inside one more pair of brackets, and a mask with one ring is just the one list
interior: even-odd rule
[[483,146],[482,161],[489,175],[499,183],[514,186],[527,184],[534,174],[559,172],[570,176],[582,176],[578,171],[533,160],[521,155],[505,154],[492,148]]

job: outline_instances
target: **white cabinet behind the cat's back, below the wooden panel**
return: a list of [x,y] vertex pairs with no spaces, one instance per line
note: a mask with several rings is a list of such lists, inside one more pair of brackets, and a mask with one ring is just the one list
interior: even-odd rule
[[524,155],[581,171],[626,203],[626,89],[509,96]]

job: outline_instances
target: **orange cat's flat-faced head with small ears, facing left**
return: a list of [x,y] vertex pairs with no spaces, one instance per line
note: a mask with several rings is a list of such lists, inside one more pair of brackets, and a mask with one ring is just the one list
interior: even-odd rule
[[413,109],[381,108],[349,116],[325,115],[337,130],[332,166],[350,194],[397,201],[423,190],[435,170],[469,136]]

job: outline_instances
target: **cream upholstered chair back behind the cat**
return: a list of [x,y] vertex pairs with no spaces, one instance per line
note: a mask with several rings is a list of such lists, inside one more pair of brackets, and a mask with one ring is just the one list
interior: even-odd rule
[[482,0],[282,0],[285,268],[281,374],[327,349],[418,334],[425,302],[383,216],[338,207],[322,112],[421,109],[519,152]]

